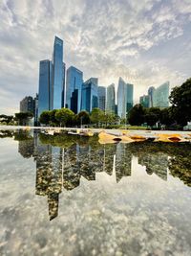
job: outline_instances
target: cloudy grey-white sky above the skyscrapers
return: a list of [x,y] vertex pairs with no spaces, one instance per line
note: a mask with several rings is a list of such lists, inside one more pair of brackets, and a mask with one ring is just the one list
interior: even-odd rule
[[64,61],[109,85],[150,85],[191,77],[191,0],[0,0],[0,114],[38,91],[39,60],[52,58],[54,35]]

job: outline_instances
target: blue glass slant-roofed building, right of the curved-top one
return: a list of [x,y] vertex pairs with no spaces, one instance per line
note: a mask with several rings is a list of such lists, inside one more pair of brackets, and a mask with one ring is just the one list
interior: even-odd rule
[[96,78],[83,82],[81,110],[86,110],[90,113],[95,107],[98,107],[97,83],[98,79]]

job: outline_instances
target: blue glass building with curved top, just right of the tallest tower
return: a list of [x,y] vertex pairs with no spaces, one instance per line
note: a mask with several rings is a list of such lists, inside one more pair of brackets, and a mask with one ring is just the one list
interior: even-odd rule
[[66,107],[78,113],[81,109],[83,72],[71,66],[66,74]]

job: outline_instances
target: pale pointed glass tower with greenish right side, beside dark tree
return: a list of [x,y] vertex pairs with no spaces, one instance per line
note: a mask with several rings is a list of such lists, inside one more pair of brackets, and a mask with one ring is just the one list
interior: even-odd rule
[[117,115],[126,118],[128,111],[133,107],[134,85],[126,83],[122,78],[118,80],[117,88]]

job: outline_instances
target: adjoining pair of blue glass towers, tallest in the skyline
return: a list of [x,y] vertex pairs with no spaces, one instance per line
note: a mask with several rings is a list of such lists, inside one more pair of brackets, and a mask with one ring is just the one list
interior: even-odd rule
[[55,36],[53,60],[45,59],[39,65],[38,118],[42,111],[59,109],[65,105],[65,63],[63,40]]

